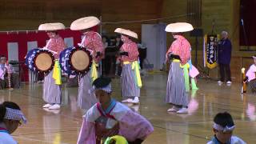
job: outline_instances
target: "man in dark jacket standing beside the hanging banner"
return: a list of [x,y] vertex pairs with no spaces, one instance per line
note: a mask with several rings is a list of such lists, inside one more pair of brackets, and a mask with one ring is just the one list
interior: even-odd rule
[[232,45],[228,38],[228,33],[222,31],[222,39],[218,42],[218,66],[221,74],[221,79],[218,83],[223,83],[226,80],[227,84],[231,84],[230,60],[231,60]]

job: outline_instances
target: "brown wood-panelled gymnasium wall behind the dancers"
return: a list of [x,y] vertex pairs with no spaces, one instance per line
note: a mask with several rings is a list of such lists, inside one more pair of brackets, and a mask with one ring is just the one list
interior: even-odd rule
[[[76,19],[88,15],[102,16],[102,22],[134,21],[150,18],[165,18],[179,14],[186,14],[187,2],[191,0],[2,0],[0,3],[0,30],[36,30],[42,22],[63,22],[66,26]],[[242,57],[250,53],[239,50],[239,0],[201,0],[202,1],[202,28],[205,34],[211,33],[214,22],[215,32],[227,30],[233,44],[233,62],[231,64],[234,79],[240,77]],[[158,22],[187,22],[187,17],[172,18]],[[154,23],[154,22],[143,22]],[[114,34],[116,27],[125,27],[141,34],[142,22],[124,24],[104,24],[103,32]],[[194,48],[194,38],[190,40]],[[167,34],[167,47],[173,38]],[[199,38],[198,63],[202,66],[202,38]],[[192,52],[194,58],[194,51]],[[210,70],[214,77],[217,69]]]

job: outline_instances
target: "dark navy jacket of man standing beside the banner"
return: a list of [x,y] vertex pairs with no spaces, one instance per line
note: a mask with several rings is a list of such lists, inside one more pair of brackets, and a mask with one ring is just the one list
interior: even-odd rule
[[230,64],[232,45],[228,38],[218,42],[218,63]]

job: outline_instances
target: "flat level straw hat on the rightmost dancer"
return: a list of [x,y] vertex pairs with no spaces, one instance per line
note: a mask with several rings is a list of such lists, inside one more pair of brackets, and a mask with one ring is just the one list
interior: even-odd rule
[[171,33],[182,33],[194,30],[193,26],[190,23],[186,22],[176,22],[176,23],[170,23],[166,26],[166,32]]

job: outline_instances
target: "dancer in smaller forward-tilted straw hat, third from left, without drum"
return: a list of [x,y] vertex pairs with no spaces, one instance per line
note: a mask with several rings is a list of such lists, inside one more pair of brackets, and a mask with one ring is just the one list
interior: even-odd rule
[[131,38],[138,38],[133,31],[118,28],[114,32],[121,35],[123,42],[120,48],[122,61],[122,102],[138,104],[142,80],[139,72],[138,46]]

